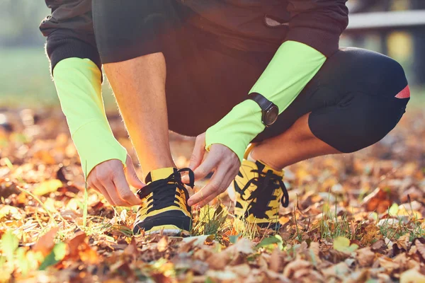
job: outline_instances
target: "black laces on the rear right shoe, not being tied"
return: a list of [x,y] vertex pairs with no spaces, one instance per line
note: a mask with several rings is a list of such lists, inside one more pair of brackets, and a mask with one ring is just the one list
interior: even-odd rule
[[[283,207],[288,207],[289,195],[288,190],[286,190],[285,184],[283,183],[282,177],[274,174],[271,170],[267,171],[266,173],[261,170],[251,170],[251,172],[258,173],[259,176],[249,180],[242,189],[242,200],[251,201],[247,212],[253,213],[259,218],[268,218],[266,212],[272,209],[272,207],[268,207],[268,203],[271,202],[271,200],[276,200],[276,196],[273,195],[273,192],[278,189],[282,190],[283,192],[280,203]],[[245,200],[245,190],[247,190],[251,184],[256,185],[257,188],[254,190],[254,192],[251,193],[251,196]],[[256,201],[253,202],[254,200]]]

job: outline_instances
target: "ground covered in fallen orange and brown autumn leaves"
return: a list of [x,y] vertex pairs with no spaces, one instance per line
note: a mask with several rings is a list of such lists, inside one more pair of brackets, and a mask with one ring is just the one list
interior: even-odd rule
[[[424,121],[411,112],[369,149],[287,168],[279,231],[235,220],[224,194],[191,234],[134,237],[135,209],[85,190],[58,110],[1,112],[0,282],[425,282]],[[171,139],[185,166],[193,141]]]

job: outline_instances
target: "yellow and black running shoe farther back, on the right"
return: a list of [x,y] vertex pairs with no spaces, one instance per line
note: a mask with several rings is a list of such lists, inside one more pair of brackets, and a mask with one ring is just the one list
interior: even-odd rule
[[244,159],[233,181],[235,216],[262,228],[278,229],[279,204],[283,207],[289,204],[283,175],[283,171],[276,171],[261,161]]

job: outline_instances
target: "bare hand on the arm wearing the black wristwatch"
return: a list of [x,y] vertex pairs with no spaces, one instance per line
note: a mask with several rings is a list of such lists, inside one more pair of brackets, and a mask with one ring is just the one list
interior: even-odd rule
[[[189,167],[195,173],[196,180],[205,178],[211,171],[214,171],[214,175],[208,185],[188,200],[190,206],[198,204],[198,207],[203,207],[224,192],[237,175],[241,165],[237,155],[222,144],[212,144],[208,156],[203,161],[204,155],[205,133],[196,138]],[[188,181],[186,176],[183,177],[183,181]]]

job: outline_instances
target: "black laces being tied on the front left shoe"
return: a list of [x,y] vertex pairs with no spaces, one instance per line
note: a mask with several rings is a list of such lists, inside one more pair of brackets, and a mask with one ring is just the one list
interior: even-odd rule
[[[161,179],[150,183],[149,185],[142,187],[137,192],[137,195],[140,197],[140,200],[145,199],[151,192],[153,192],[152,197],[147,199],[147,202],[153,199],[153,202],[149,204],[149,209],[147,213],[152,212],[154,210],[163,209],[165,207],[178,205],[174,202],[177,200],[176,195],[180,195],[180,192],[176,190],[176,187],[181,189],[184,192],[186,197],[186,202],[189,199],[188,190],[181,182],[181,173],[188,172],[189,174],[189,187],[193,188],[195,186],[195,175],[190,168],[183,168],[178,171],[175,171],[168,178]],[[191,211],[191,207],[186,205],[186,209]],[[183,207],[182,207],[183,208]]]

